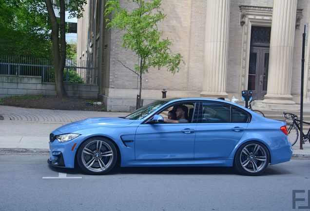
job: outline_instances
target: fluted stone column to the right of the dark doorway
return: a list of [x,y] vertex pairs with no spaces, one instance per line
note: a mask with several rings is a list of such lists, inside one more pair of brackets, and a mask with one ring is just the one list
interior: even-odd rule
[[297,0],[273,0],[265,104],[293,105],[291,78]]

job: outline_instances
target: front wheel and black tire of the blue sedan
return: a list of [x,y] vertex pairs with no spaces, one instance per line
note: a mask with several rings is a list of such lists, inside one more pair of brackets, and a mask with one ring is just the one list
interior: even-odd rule
[[112,141],[106,138],[88,139],[77,151],[78,166],[88,174],[106,174],[115,167],[116,161],[116,147]]

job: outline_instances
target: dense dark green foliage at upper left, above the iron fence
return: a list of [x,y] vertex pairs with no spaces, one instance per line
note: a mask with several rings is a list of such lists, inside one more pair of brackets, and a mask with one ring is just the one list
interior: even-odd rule
[[46,15],[34,13],[29,0],[0,0],[1,54],[50,57]]

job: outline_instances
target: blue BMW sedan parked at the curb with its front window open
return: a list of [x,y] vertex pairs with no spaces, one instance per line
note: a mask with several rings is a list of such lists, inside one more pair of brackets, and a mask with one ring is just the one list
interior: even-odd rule
[[218,99],[175,99],[126,117],[89,118],[50,134],[55,167],[105,174],[120,167],[234,167],[259,175],[290,161],[285,122]]

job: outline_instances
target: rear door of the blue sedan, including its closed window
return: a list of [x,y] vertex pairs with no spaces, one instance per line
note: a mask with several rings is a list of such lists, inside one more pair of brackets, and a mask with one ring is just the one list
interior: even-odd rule
[[248,127],[249,114],[217,102],[201,102],[199,110],[194,158],[227,158]]

